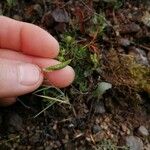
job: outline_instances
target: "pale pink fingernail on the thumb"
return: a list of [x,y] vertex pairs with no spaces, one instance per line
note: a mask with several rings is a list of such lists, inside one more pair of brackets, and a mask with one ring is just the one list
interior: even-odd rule
[[40,69],[32,64],[19,65],[19,83],[22,85],[34,85],[40,79]]

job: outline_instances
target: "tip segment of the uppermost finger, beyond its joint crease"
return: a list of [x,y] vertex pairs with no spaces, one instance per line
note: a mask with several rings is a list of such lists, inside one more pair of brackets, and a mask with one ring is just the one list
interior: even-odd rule
[[[26,24],[26,25],[25,25]],[[22,46],[25,54],[55,58],[59,53],[58,41],[44,29],[29,23],[22,26]]]

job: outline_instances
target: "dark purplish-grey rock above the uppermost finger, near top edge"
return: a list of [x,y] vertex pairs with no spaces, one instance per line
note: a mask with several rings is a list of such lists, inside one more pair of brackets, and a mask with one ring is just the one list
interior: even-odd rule
[[67,11],[65,11],[64,9],[60,9],[60,8],[56,8],[55,10],[53,10],[52,16],[56,22],[68,23],[70,20]]

